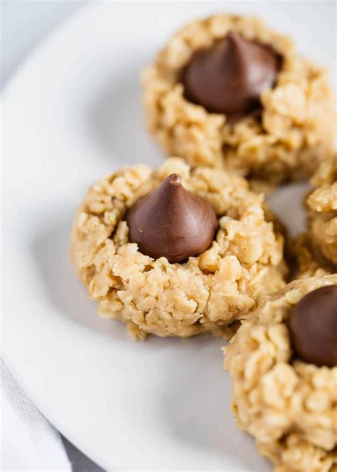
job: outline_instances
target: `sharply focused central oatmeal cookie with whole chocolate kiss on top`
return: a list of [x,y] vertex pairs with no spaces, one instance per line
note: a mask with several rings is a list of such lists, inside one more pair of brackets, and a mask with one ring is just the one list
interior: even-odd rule
[[283,238],[262,203],[245,179],[183,159],[122,169],[77,211],[73,265],[98,313],[135,337],[220,335],[284,285]]

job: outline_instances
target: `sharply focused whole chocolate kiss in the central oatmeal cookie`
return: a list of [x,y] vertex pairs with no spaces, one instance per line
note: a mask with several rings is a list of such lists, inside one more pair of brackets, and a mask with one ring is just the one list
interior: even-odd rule
[[215,212],[207,201],[181,185],[171,174],[127,213],[129,242],[154,259],[170,263],[187,261],[210,247],[218,228]]

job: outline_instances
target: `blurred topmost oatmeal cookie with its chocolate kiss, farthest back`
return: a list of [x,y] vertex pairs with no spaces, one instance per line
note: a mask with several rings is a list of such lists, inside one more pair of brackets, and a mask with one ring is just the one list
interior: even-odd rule
[[215,15],[175,33],[141,76],[150,132],[192,165],[277,184],[331,153],[326,70],[256,18]]

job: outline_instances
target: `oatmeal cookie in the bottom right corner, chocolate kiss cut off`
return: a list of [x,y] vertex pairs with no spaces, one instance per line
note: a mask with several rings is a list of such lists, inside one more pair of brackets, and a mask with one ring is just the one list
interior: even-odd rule
[[237,423],[275,471],[336,471],[337,275],[266,297],[224,350]]

